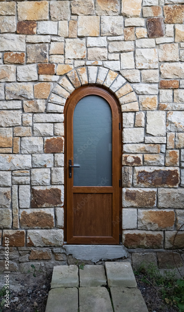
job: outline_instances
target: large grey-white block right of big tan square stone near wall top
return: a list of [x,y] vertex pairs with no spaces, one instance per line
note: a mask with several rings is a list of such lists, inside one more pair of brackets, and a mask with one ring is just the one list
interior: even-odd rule
[[101,17],[101,36],[123,35],[122,16],[102,16]]

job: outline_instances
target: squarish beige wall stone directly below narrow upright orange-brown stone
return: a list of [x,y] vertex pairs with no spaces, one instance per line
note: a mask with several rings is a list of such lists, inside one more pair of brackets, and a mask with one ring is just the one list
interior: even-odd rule
[[66,39],[65,41],[65,58],[66,59],[85,59],[86,42],[85,39]]

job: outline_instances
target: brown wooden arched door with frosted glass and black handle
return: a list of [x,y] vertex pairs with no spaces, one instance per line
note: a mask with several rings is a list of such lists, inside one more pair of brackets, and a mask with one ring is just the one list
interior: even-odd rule
[[65,241],[119,244],[120,107],[107,90],[83,86],[70,96],[64,113]]

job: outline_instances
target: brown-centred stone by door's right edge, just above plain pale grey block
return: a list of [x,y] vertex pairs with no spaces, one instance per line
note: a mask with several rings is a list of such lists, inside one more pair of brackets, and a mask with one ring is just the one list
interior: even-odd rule
[[[139,191],[139,189],[125,189],[125,201],[134,207],[154,207],[156,200],[155,191]],[[128,205],[126,206],[128,207]]]

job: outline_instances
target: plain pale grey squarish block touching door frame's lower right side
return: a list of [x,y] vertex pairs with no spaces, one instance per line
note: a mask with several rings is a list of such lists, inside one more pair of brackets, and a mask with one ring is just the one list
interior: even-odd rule
[[123,208],[122,209],[122,229],[136,229],[137,228],[137,209]]

